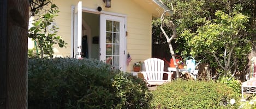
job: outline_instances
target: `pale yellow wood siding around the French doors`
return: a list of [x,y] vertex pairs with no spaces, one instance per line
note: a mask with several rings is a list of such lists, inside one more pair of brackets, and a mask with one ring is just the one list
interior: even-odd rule
[[[70,56],[70,44],[72,44],[71,7],[78,2],[74,0],[53,0],[53,3],[61,11],[55,18],[59,27],[58,35],[61,35],[64,41],[68,43],[67,48],[56,47],[55,56]],[[84,0],[82,1],[82,7],[95,10],[97,7],[102,7],[103,11],[127,16],[127,52],[129,52],[133,59],[127,67],[127,71],[132,70],[134,62],[144,61],[151,57],[151,12],[140,7],[134,1],[129,0],[111,1],[111,8],[105,8],[102,0]]]

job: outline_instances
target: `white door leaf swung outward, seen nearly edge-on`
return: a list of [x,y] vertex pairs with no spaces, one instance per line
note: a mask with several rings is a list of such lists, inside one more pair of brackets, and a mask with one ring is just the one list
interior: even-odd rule
[[82,2],[78,2],[74,10],[74,52],[76,59],[81,58],[82,50]]

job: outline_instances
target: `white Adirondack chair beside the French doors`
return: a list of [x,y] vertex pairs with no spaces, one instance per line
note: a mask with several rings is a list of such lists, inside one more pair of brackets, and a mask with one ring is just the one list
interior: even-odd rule
[[[148,85],[162,85],[171,81],[172,72],[164,72],[164,60],[150,58],[144,61],[146,71],[141,72]],[[168,79],[163,80],[164,73],[168,74]]]

